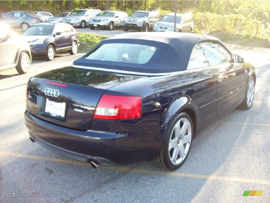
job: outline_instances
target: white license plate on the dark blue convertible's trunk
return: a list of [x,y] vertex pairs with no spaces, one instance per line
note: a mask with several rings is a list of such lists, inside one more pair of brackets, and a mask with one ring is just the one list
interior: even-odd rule
[[66,102],[54,102],[46,99],[45,113],[49,113],[51,116],[59,116],[65,118]]

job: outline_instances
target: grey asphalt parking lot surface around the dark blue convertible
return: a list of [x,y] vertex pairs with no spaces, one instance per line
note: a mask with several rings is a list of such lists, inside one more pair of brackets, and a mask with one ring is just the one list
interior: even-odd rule
[[[236,109],[198,132],[186,162],[174,172],[149,162],[95,170],[30,142],[23,118],[28,78],[68,66],[82,54],[35,59],[24,75],[0,71],[1,202],[269,202],[270,50],[230,47],[256,68],[253,106]],[[244,197],[245,190],[263,192]]]

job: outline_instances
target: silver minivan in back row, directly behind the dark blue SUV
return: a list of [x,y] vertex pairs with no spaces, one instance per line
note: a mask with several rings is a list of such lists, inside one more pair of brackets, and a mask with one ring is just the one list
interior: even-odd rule
[[89,19],[99,14],[101,11],[97,9],[78,9],[72,11],[68,16],[65,16],[63,21],[73,27],[85,28]]

